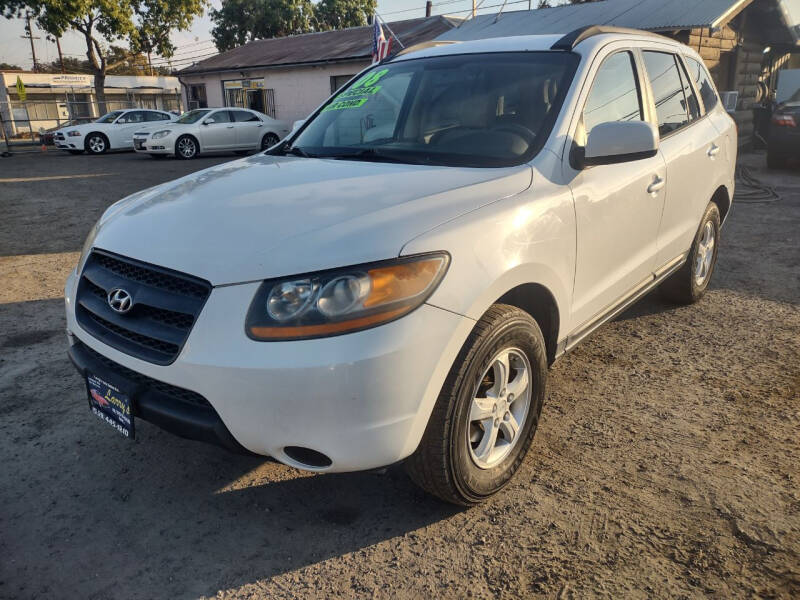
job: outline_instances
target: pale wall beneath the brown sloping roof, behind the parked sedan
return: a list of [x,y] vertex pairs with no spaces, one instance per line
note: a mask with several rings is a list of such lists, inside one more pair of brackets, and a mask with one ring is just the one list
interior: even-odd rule
[[[205,83],[208,105],[218,107],[225,106],[222,95],[223,81],[263,77],[264,87],[275,90],[276,117],[284,121],[295,121],[306,118],[330,96],[331,76],[355,75],[368,66],[369,61],[364,61],[315,67],[251,69],[242,72],[188,75],[181,76],[180,79],[185,85]],[[184,104],[186,104],[185,100],[184,95]]]

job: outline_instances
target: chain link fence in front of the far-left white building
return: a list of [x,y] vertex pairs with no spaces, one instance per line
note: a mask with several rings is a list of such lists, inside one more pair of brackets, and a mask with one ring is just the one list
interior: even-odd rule
[[[167,94],[139,96],[135,100],[106,100],[106,112],[126,108],[180,112],[181,103],[178,96]],[[89,123],[101,116],[97,102],[69,99],[0,102],[0,147],[10,152],[26,147],[50,146],[57,129]]]

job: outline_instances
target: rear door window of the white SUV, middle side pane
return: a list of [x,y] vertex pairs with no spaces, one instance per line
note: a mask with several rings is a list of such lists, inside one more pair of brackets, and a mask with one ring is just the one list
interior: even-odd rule
[[650,86],[653,88],[658,132],[662,136],[668,135],[689,122],[686,97],[683,95],[684,84],[678,65],[675,57],[666,52],[646,51],[642,54]]

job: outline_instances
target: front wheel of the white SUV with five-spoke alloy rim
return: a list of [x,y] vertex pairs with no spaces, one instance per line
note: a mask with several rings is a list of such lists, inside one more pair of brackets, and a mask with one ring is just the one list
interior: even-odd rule
[[[522,390],[517,398],[498,389],[502,377],[498,379],[496,359],[504,355],[511,366],[506,372],[515,371],[508,378],[508,390]],[[527,369],[527,388],[520,387],[521,369]],[[536,321],[518,308],[495,304],[461,348],[422,441],[405,462],[406,472],[424,490],[461,506],[479,504],[496,494],[519,469],[531,445],[546,384],[547,352]],[[479,405],[476,398],[484,402]],[[513,438],[506,433],[510,425],[506,412],[514,413],[519,426]],[[473,419],[479,414],[488,417]],[[493,427],[498,431],[494,443],[486,437]]]

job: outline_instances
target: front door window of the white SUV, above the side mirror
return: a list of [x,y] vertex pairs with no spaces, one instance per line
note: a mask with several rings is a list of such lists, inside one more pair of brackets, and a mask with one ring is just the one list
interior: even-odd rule
[[618,52],[607,58],[592,83],[592,91],[583,110],[585,135],[600,123],[641,121],[642,104],[630,52]]

